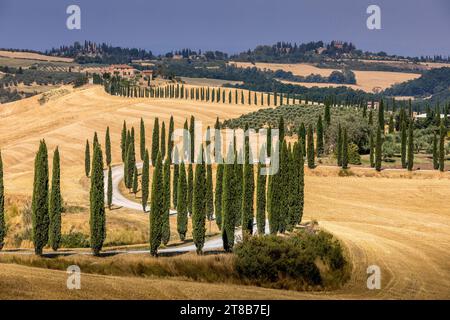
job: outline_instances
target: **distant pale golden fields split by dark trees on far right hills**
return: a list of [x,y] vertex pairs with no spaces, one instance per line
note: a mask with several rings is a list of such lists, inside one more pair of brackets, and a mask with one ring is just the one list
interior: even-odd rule
[[[259,69],[267,69],[267,70],[283,70],[287,72],[292,72],[294,75],[298,76],[308,76],[311,74],[318,74],[323,77],[329,76],[331,72],[336,69],[325,69],[325,68],[317,68],[313,65],[306,63],[255,63],[252,64],[250,62],[232,62],[237,67],[257,67]],[[402,83],[408,80],[414,80],[420,77],[419,74],[415,73],[405,73],[405,72],[386,72],[386,71],[353,71],[356,77],[356,85],[344,85],[351,87],[353,89],[360,89],[366,92],[372,92],[374,88],[381,88],[382,90],[389,88],[390,86],[396,83]],[[326,86],[324,84],[316,84],[316,83],[297,83],[302,86],[312,87]],[[329,85],[336,86],[336,85]]]

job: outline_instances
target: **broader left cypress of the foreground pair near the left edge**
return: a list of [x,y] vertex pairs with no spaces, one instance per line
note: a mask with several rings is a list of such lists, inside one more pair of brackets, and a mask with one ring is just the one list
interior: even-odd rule
[[42,255],[48,242],[48,154],[45,141],[39,145],[34,162],[34,187],[32,200],[32,224],[34,252]]

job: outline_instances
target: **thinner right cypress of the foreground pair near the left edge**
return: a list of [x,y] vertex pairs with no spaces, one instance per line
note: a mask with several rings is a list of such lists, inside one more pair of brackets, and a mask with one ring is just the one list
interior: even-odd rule
[[61,242],[61,213],[62,197],[60,183],[60,160],[59,150],[55,149],[53,154],[52,187],[49,202],[49,244],[54,251],[58,250]]

